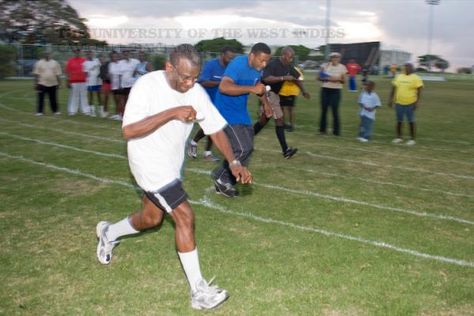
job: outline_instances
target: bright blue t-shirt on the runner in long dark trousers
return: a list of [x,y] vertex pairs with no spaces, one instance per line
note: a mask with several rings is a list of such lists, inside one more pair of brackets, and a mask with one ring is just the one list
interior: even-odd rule
[[[235,57],[224,72],[224,77],[231,78],[239,86],[255,86],[261,76],[261,71],[249,65],[247,55]],[[248,96],[248,93],[233,96],[217,91],[214,103],[229,125],[252,125],[247,110]]]

